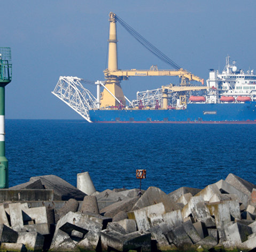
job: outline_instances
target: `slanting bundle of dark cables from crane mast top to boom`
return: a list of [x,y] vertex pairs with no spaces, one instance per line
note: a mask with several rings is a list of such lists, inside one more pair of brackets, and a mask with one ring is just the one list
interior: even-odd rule
[[156,48],[156,46],[152,45],[149,41],[147,41],[142,35],[137,33],[136,30],[131,28],[125,21],[123,21],[118,15],[115,15],[115,19],[119,21],[119,23],[125,28],[129,34],[131,34],[139,43],[141,43],[143,46],[145,46],[146,49],[148,49],[150,52],[152,52],[154,55],[156,55],[159,59],[166,62],[170,66],[172,66],[174,69],[180,69],[181,67],[177,65],[174,61],[172,61],[170,58],[168,58],[164,53],[162,53],[160,50]]

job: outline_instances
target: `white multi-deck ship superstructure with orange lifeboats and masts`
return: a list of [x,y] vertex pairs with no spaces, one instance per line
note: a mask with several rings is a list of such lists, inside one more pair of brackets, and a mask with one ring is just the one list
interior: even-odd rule
[[222,73],[210,69],[206,83],[207,86],[213,87],[208,92],[206,103],[241,103],[256,100],[256,75],[253,69],[246,72],[238,69],[236,61],[230,63],[229,56],[226,58],[226,66]]

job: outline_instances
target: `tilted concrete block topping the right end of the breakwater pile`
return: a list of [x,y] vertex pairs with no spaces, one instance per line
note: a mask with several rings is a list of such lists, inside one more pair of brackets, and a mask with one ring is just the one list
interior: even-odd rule
[[251,192],[253,188],[256,188],[256,185],[234,175],[234,174],[229,174],[227,178],[225,179],[226,182],[237,188],[238,191],[243,192],[246,194],[249,199],[251,197]]

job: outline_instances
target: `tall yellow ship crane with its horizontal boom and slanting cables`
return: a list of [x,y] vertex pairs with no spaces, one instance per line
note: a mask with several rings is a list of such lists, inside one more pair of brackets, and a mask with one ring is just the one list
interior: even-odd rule
[[[189,81],[199,81],[204,84],[204,80],[196,75],[191,74],[187,70],[181,68],[174,61],[170,60],[164,53],[159,51],[149,41],[137,33],[131,28],[125,21],[123,21],[118,15],[110,12],[109,15],[110,30],[108,37],[108,67],[105,69],[105,89],[102,92],[100,98],[100,107],[118,106],[126,104],[126,97],[123,95],[123,91],[120,85],[122,80],[128,80],[130,76],[179,76],[181,78],[181,85],[186,86]],[[149,70],[120,70],[118,69],[117,58],[117,26],[119,23],[131,34],[136,40],[144,45],[149,51],[155,54],[158,58],[171,65],[174,69],[159,70],[157,66],[151,66]]]

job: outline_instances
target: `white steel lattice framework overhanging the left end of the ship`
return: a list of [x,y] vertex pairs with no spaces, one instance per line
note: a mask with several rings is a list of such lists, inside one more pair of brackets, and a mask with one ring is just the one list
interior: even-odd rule
[[84,88],[82,83],[95,84],[78,77],[60,76],[52,93],[88,122],[91,122],[89,109],[98,108],[99,100],[88,89]]

